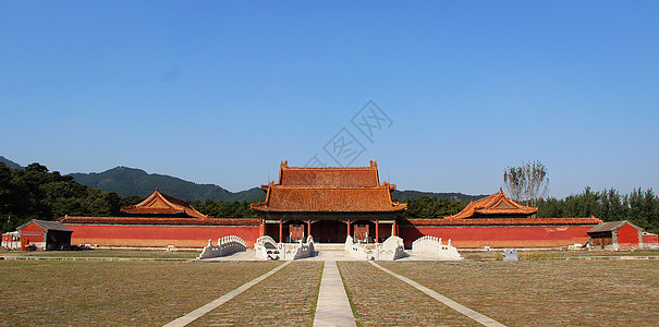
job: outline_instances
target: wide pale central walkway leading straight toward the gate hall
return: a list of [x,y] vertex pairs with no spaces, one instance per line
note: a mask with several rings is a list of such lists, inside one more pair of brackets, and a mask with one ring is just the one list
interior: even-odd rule
[[334,261],[325,263],[314,326],[357,326]]

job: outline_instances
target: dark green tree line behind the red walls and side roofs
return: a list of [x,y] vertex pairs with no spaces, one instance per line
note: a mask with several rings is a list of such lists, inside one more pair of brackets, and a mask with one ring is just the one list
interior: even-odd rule
[[[121,197],[114,192],[103,192],[77,183],[71,175],[49,172],[38,162],[25,169],[12,169],[0,162],[0,219],[2,231],[14,230],[29,219],[56,220],[71,216],[120,216],[122,206],[135,205],[144,197]],[[419,196],[402,201],[407,210],[401,218],[442,218],[460,213],[466,202]],[[251,202],[195,201],[193,207],[211,217],[255,218]],[[659,232],[659,196],[651,189],[634,190],[621,195],[618,191],[584,192],[562,199],[537,198],[537,217],[568,218],[595,216],[603,221],[630,220],[633,223]]]

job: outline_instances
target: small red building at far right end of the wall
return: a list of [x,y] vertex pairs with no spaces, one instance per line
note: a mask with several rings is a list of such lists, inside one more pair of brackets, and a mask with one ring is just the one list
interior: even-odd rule
[[[655,235],[656,237],[656,235]],[[648,242],[645,246],[644,241]],[[591,246],[609,250],[636,250],[651,247],[657,243],[652,234],[627,221],[602,222],[588,230],[588,242]]]

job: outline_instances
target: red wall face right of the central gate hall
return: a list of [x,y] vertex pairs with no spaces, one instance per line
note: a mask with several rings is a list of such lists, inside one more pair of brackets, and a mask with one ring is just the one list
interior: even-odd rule
[[423,235],[451,239],[455,247],[556,247],[588,241],[593,226],[401,226],[406,247]]

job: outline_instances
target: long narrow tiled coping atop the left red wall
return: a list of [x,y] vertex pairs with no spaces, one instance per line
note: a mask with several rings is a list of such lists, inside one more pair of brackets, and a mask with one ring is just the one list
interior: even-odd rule
[[198,226],[258,226],[258,218],[162,218],[162,217],[75,217],[65,216],[63,223],[99,225],[198,225]]

